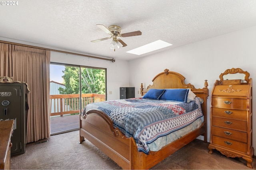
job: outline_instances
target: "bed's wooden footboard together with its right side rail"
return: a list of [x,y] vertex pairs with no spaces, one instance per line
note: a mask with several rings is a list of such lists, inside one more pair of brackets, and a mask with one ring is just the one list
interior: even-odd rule
[[196,137],[204,134],[205,123],[184,137],[166,145],[161,150],[149,154],[138,152],[134,139],[122,135],[113,127],[111,119],[102,111],[92,109],[85,117],[80,117],[80,143],[86,138],[123,169],[149,169],[172,153],[184,147]]

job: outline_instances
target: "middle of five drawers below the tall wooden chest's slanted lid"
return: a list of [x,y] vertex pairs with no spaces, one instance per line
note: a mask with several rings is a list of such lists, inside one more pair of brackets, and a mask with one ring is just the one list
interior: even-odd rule
[[225,127],[228,129],[247,131],[247,121],[239,121],[235,119],[226,119],[221,117],[212,117],[212,125]]

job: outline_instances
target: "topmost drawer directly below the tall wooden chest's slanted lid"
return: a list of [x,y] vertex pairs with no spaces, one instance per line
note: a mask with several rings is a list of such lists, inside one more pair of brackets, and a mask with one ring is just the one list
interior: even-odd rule
[[212,98],[212,107],[247,110],[247,100],[232,98]]

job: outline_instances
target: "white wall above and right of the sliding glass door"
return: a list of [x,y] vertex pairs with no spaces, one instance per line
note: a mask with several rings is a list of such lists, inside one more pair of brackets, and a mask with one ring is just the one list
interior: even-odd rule
[[[107,70],[107,100],[120,99],[119,88],[129,87],[128,61],[116,60],[115,63],[107,60],[82,57],[58,52],[51,52],[51,62],[93,66]],[[112,94],[109,92],[112,91]]]

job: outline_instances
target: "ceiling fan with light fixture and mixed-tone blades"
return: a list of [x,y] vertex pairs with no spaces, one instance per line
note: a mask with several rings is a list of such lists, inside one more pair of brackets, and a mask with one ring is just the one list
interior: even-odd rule
[[132,36],[142,34],[140,31],[133,31],[133,32],[121,34],[121,27],[119,27],[118,25],[110,25],[108,28],[105,27],[104,25],[101,25],[101,24],[97,24],[97,26],[100,29],[102,29],[103,31],[105,31],[106,33],[108,33],[111,37],[96,39],[96,40],[93,40],[91,42],[95,43],[95,42],[98,42],[98,41],[103,41],[103,40],[112,38],[112,41],[110,43],[110,49],[114,49],[114,51],[115,51],[115,47],[118,47],[118,49],[119,49],[120,47],[127,46],[127,44],[124,43],[124,41],[122,41],[118,37],[132,37]]

